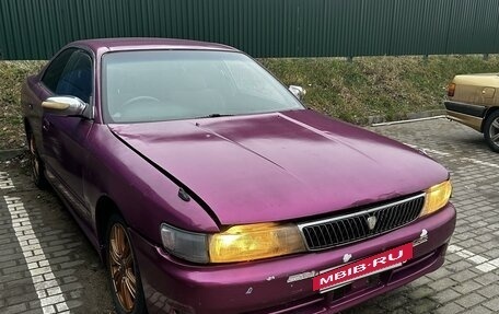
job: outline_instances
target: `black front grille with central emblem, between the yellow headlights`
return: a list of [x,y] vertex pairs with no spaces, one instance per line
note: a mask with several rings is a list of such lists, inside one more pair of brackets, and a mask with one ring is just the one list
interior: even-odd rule
[[416,220],[423,205],[425,194],[420,194],[346,216],[301,223],[298,226],[309,251],[320,251],[401,228]]

